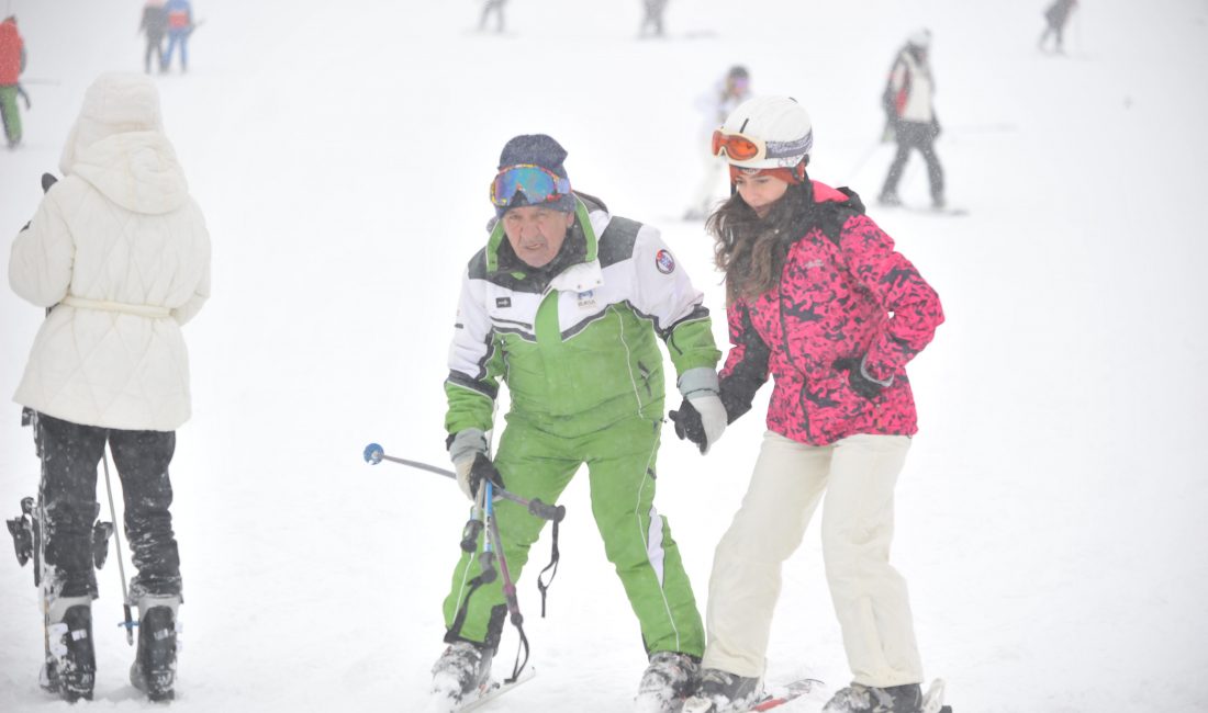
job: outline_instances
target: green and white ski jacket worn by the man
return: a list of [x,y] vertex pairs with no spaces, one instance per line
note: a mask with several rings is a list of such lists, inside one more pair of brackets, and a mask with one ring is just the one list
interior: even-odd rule
[[534,275],[515,255],[513,264],[500,264],[501,247],[511,255],[501,223],[470,261],[445,381],[449,433],[492,428],[500,380],[509,419],[556,436],[575,438],[631,416],[661,421],[656,333],[676,375],[716,368],[721,352],[703,296],[658,230],[612,217],[587,197],[576,203],[563,252],[582,258],[557,275]]

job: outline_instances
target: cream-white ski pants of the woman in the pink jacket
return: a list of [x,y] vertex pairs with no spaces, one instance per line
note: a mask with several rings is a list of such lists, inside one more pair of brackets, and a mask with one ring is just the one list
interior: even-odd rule
[[922,683],[906,580],[889,565],[894,485],[905,436],[852,436],[811,446],[768,431],[750,486],[718,544],[703,666],[762,677],[780,568],[826,492],[823,557],[853,680]]

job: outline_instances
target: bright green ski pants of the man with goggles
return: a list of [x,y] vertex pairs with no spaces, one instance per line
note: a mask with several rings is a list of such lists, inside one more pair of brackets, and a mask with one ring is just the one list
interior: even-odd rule
[[[632,417],[597,433],[562,438],[510,414],[495,466],[507,490],[552,504],[579,466],[586,463],[592,515],[604,539],[605,555],[616,567],[638,616],[646,650],[699,656],[704,631],[692,585],[667,519],[654,505],[661,431],[658,421]],[[494,508],[507,568],[517,580],[528,561],[529,547],[546,522],[509,501],[498,501]],[[568,516],[582,514],[571,510]],[[482,547],[480,538],[478,551]],[[445,625],[449,629],[446,641],[486,642],[496,648],[506,613],[503,577],[474,592],[460,630],[453,630],[457,614],[466,603],[470,580],[480,572],[478,553],[464,554],[453,572],[453,589],[445,600]]]

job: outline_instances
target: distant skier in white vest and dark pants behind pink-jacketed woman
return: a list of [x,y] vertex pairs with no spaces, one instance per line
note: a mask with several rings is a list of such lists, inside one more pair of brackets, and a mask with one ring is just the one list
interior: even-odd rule
[[913,33],[906,46],[898,53],[893,69],[889,70],[889,83],[882,95],[882,103],[894,138],[898,141],[898,153],[889,164],[884,186],[878,200],[883,205],[900,205],[898,182],[902,177],[906,160],[912,150],[918,150],[927,162],[927,177],[931,185],[931,206],[942,209],[943,166],[935,153],[935,139],[940,135],[940,121],[935,116],[933,97],[935,80],[931,76],[930,63],[931,31],[927,29]]

